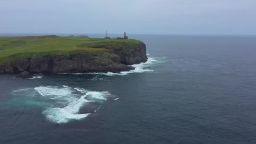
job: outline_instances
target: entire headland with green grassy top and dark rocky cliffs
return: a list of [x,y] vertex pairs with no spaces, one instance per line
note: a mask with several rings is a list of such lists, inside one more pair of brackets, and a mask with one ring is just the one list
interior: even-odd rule
[[145,44],[133,39],[108,40],[56,35],[0,37],[0,73],[23,70],[107,72],[117,67],[119,70],[120,67],[127,69],[121,64],[131,65],[145,61]]

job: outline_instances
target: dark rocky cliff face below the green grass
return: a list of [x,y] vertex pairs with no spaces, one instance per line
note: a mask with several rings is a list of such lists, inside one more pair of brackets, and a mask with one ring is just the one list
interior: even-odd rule
[[74,53],[68,55],[38,56],[7,61],[0,66],[0,73],[29,71],[33,73],[82,73],[120,72],[131,70],[127,65],[147,61],[145,44],[111,50],[110,53],[94,55]]

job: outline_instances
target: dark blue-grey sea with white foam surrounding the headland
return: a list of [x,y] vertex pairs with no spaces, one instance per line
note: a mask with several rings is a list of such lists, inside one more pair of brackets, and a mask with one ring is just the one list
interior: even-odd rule
[[0,144],[256,143],[256,37],[128,36],[132,72],[0,75]]

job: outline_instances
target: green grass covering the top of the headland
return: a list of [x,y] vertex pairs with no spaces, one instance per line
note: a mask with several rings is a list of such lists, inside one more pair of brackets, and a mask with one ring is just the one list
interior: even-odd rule
[[139,40],[108,40],[86,37],[27,36],[0,37],[0,64],[32,55],[61,55],[70,53],[109,53],[143,43]]

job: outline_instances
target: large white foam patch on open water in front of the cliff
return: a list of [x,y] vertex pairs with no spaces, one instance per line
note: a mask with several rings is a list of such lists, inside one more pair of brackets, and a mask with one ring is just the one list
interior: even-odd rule
[[[86,108],[86,104],[89,102],[115,98],[107,91],[88,91],[84,88],[71,88],[67,85],[62,85],[62,87],[39,86],[34,89],[40,96],[43,96],[42,98],[52,101],[52,105],[43,110],[42,114],[53,123],[67,123],[71,120],[83,119],[90,113],[80,114],[79,111],[82,107]],[[80,94],[78,95],[76,91]]]

